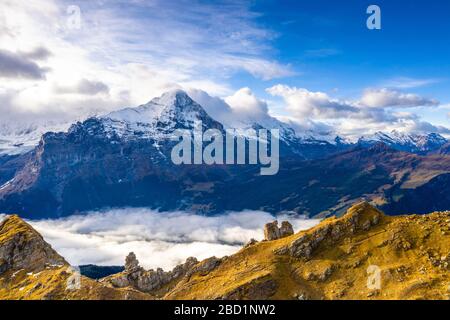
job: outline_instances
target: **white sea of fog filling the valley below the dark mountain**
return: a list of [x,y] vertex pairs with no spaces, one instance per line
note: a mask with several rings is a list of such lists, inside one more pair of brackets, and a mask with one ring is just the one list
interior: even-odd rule
[[[5,215],[0,214],[0,221]],[[277,216],[263,211],[203,216],[145,208],[90,212],[67,218],[27,221],[72,265],[123,265],[133,251],[147,269],[172,269],[186,258],[222,257],[251,238],[263,238],[265,223],[289,220],[295,232],[319,220]]]

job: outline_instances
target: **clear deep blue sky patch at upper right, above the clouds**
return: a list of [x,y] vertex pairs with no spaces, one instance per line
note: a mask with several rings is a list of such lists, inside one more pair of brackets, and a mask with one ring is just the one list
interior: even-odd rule
[[[339,88],[343,96],[362,87],[410,78],[417,89],[450,100],[450,3],[444,1],[256,2],[261,23],[279,34],[274,54],[299,76],[284,82],[312,90]],[[368,5],[381,8],[382,30],[366,28]],[[326,79],[326,81],[324,81]],[[404,79],[407,82],[407,79]],[[432,80],[432,81],[428,81]],[[411,81],[411,85],[414,81]],[[406,85],[406,84],[405,84]]]

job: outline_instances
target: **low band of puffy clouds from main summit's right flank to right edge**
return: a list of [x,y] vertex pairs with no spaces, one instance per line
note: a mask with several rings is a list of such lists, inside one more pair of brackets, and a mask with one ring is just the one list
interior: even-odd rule
[[[286,85],[275,85],[266,91],[283,99],[283,115],[269,115],[271,110],[267,102],[259,99],[249,88],[242,88],[223,99],[211,97],[202,90],[190,90],[189,94],[213,118],[232,128],[258,121],[269,126],[279,125],[271,118],[274,116],[301,136],[314,134],[326,140],[334,139],[336,135],[355,140],[362,135],[392,130],[449,134],[448,128],[423,121],[404,108],[368,107],[360,100],[336,99],[324,92]],[[407,99],[410,102],[421,101],[414,94],[399,94],[396,97],[403,99],[401,102]]]

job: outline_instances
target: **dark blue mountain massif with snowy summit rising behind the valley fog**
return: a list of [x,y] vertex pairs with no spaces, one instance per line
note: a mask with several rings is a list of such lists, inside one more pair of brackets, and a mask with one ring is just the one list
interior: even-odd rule
[[[0,212],[48,218],[148,207],[327,216],[360,200],[392,214],[450,206],[448,196],[429,197],[442,187],[449,193],[445,152],[417,155],[381,142],[315,143],[288,128],[280,170],[272,177],[260,176],[260,166],[252,165],[174,165],[175,142],[168,137],[176,128],[192,128],[195,120],[202,120],[204,129],[224,130],[186,93],[174,91],[137,109],[77,123],[66,133],[47,133],[32,152],[0,157]],[[411,197],[422,205],[411,207]]]

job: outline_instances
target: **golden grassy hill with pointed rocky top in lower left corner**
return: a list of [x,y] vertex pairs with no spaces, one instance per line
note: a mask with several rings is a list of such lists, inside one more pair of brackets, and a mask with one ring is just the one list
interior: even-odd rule
[[0,224],[0,299],[149,299],[79,276],[42,236],[18,216]]

